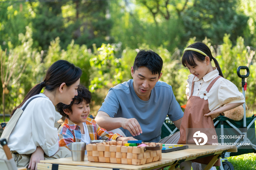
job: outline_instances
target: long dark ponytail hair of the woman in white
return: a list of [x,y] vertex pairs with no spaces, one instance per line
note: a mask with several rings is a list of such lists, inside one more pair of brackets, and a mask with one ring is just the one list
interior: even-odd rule
[[54,62],[47,70],[44,81],[30,89],[22,103],[12,111],[12,115],[17,108],[20,108],[27,101],[27,99],[35,96],[36,94],[39,94],[42,88],[45,87],[46,90],[52,92],[59,88],[62,83],[70,86],[78,81],[81,74],[82,70],[79,67],[76,67],[74,64],[69,63],[68,61],[59,60]]

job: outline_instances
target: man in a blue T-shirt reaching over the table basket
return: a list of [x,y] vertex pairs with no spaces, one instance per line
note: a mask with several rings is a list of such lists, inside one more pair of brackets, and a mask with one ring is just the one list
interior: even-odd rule
[[131,67],[133,79],[110,88],[95,118],[99,126],[108,131],[120,128],[126,136],[143,142],[177,142],[179,133],[159,141],[166,116],[177,128],[183,117],[172,87],[158,81],[162,66],[157,53],[140,50]]

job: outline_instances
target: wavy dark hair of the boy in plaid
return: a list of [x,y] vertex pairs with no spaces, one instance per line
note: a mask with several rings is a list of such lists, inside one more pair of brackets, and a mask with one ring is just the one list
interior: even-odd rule
[[63,110],[68,109],[68,111],[71,112],[71,106],[73,104],[79,104],[83,101],[86,101],[86,104],[91,103],[91,92],[84,85],[80,84],[78,86],[77,93],[78,95],[73,98],[69,105],[63,103],[58,103],[56,105],[57,111],[61,116],[68,117],[68,115]]

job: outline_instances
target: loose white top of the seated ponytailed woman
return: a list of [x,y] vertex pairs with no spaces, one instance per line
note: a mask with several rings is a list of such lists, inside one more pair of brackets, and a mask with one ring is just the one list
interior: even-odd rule
[[[61,119],[52,101],[43,93],[37,94],[20,116],[12,131],[8,147],[19,154],[31,154],[40,146],[51,157],[59,150],[57,128],[54,123]],[[30,98],[22,105],[22,109]]]

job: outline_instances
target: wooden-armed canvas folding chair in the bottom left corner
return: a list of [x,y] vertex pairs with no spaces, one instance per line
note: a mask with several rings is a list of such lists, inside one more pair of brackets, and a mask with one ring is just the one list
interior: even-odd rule
[[6,139],[1,139],[0,143],[3,146],[3,150],[7,157],[7,159],[0,159],[1,170],[27,170],[27,168],[25,168],[25,167],[20,167],[20,168],[16,167],[16,164],[14,162],[14,159],[12,158],[10,149],[7,146]]

